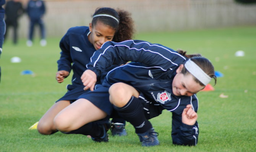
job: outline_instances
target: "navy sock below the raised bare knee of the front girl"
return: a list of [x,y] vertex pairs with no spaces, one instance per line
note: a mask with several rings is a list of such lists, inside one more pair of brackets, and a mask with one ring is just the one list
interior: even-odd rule
[[136,133],[145,133],[152,128],[151,123],[145,117],[143,106],[138,98],[131,97],[125,106],[121,108],[114,106],[114,109],[123,119],[133,125]]

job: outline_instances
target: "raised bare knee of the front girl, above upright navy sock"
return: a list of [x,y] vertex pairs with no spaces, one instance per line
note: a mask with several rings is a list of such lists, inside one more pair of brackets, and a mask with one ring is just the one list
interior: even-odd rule
[[109,88],[109,94],[110,102],[117,107],[125,106],[132,96],[136,97],[139,95],[136,89],[122,82],[113,84]]

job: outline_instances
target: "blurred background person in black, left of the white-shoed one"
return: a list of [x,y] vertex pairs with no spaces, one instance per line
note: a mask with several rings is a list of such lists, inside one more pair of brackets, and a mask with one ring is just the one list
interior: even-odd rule
[[20,0],[10,0],[5,5],[5,24],[6,36],[8,35],[8,28],[13,27],[13,44],[18,43],[18,18],[23,14],[24,8]]

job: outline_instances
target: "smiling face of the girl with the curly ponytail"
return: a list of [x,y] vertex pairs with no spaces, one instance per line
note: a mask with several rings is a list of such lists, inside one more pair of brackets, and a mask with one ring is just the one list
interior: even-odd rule
[[90,23],[89,30],[91,33],[89,34],[88,39],[96,50],[100,49],[105,42],[112,41],[115,35],[115,30],[112,27],[102,24],[100,21],[98,21],[94,27],[92,27],[92,24]]

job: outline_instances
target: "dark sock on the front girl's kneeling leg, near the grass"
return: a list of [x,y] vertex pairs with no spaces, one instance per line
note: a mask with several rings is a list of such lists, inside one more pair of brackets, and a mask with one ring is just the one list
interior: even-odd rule
[[90,135],[92,137],[98,137],[102,133],[102,130],[99,128],[99,124],[95,122],[90,122],[82,127],[78,128],[77,130],[72,130],[70,132],[62,132],[65,134],[82,134],[82,135]]

